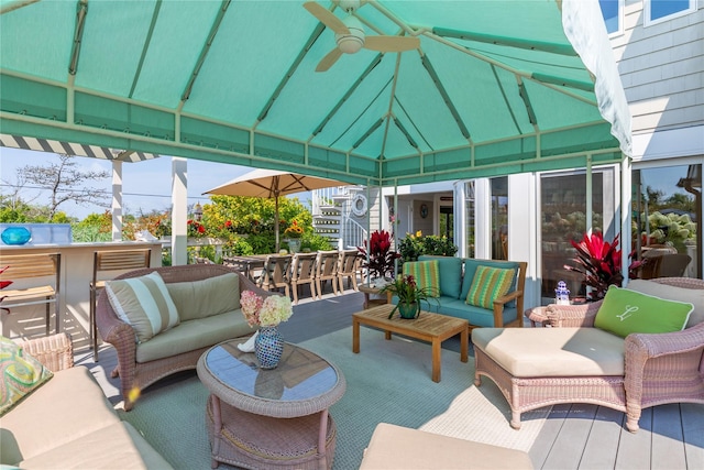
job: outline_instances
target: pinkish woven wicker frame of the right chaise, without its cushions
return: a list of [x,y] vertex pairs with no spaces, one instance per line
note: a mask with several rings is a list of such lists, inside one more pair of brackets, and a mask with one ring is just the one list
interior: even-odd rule
[[[704,281],[685,277],[651,280],[660,284],[704,289]],[[550,305],[553,327],[593,327],[602,302]],[[512,407],[512,426],[520,414],[559,403],[591,403],[626,412],[626,426],[638,430],[642,408],[667,403],[704,404],[704,323],[682,331],[629,335],[624,341],[625,375],[588,378],[514,378],[486,352],[475,348],[475,384],[492,379]]]

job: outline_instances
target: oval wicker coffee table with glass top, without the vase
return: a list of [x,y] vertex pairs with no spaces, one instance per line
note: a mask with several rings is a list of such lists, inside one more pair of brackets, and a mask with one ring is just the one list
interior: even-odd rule
[[332,468],[337,429],[328,408],[344,394],[340,370],[290,343],[276,369],[260,370],[254,353],[237,347],[245,340],[221,342],[198,360],[210,391],[212,468]]

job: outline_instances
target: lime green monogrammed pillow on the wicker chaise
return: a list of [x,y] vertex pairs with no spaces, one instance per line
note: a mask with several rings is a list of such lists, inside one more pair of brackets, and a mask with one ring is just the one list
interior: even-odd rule
[[692,304],[666,300],[612,285],[596,313],[594,326],[623,338],[631,332],[680,331],[693,309]]

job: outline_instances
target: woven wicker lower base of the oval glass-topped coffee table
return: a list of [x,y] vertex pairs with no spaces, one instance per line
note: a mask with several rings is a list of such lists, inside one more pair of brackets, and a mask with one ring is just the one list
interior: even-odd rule
[[[320,414],[297,418],[273,418],[243,412],[221,403],[223,427],[213,440],[212,400],[208,400],[208,437],[218,460],[246,469],[311,469],[318,460]],[[326,467],[332,468],[337,429],[328,415]]]

